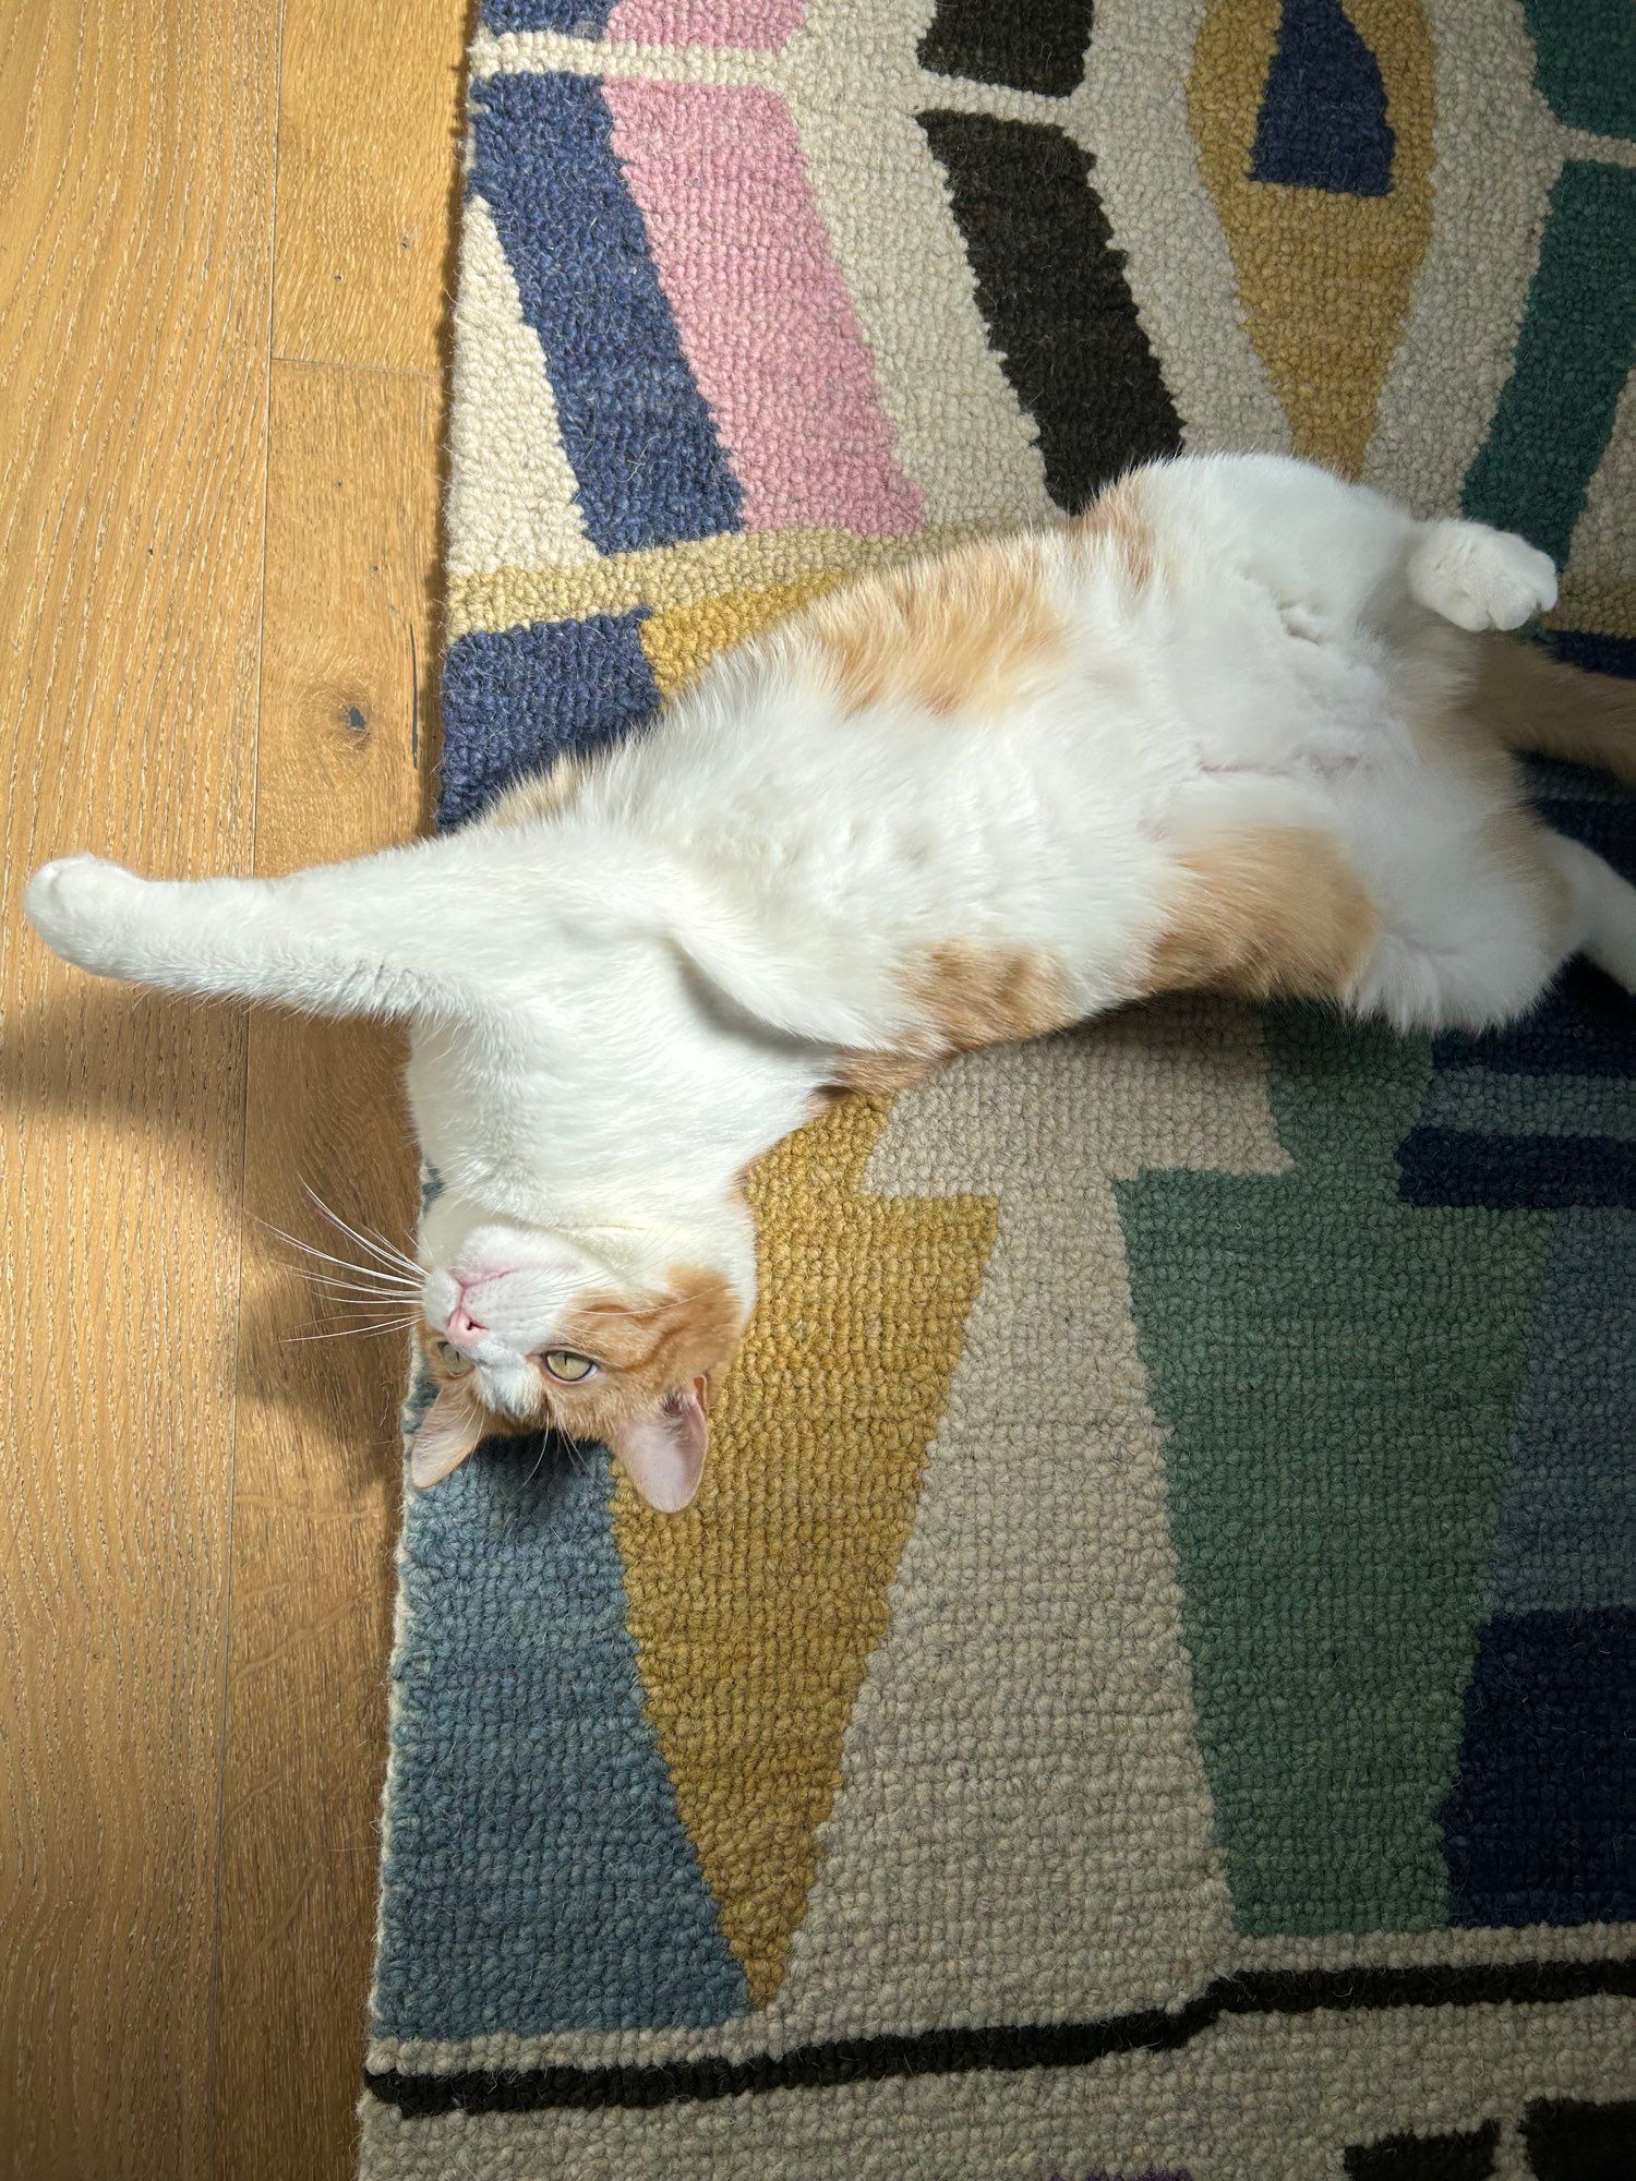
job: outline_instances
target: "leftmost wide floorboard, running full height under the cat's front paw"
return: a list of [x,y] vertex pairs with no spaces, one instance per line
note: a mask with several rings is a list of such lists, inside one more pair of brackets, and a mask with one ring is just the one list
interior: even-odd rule
[[209,2170],[244,1025],[46,855],[244,868],[277,0],[0,7],[0,2170]]

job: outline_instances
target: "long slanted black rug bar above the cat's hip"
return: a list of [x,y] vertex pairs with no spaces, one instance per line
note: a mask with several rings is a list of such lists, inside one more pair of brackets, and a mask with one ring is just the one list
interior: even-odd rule
[[921,126],[995,353],[1038,427],[1051,499],[1078,513],[1132,462],[1180,454],[1088,153],[1060,129],[990,113],[923,113]]

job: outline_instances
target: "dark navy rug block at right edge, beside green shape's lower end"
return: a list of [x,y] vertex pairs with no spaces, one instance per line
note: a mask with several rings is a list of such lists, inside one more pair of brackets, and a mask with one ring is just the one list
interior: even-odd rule
[[1453,1924],[1636,1915],[1629,1719],[1636,1612],[1494,1614],[1477,1638],[1442,1806]]

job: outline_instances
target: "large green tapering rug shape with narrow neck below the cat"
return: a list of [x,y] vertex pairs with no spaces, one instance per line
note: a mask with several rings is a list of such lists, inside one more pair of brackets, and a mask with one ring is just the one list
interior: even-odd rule
[[1200,1745],[1241,1930],[1429,1930],[1553,1215],[1398,1200],[1424,1040],[1267,1047],[1291,1171],[1119,1184]]

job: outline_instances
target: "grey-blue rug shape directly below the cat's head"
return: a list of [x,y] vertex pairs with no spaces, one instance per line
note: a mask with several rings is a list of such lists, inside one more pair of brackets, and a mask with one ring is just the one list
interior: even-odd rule
[[748,2007],[643,1714],[611,1498],[604,1457],[539,1439],[410,1496],[382,2037]]

